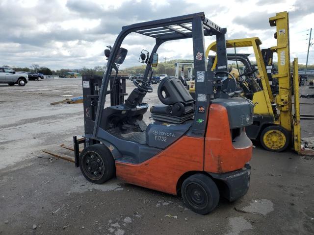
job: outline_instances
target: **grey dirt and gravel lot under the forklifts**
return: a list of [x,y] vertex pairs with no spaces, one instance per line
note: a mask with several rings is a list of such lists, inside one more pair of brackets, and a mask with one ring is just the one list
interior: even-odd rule
[[[314,234],[314,159],[267,152],[257,143],[248,193],[234,203],[221,200],[205,216],[179,197],[117,179],[88,183],[74,164],[40,151],[70,154],[59,145],[83,133],[82,104],[50,105],[67,95],[81,95],[80,79],[0,85],[0,235]],[[158,102],[155,93],[147,98]],[[314,114],[313,105],[301,113]],[[302,121],[304,136],[314,134],[313,122]]]

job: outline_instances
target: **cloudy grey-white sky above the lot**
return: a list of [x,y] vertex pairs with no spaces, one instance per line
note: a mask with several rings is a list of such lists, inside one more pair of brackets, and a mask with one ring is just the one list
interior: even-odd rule
[[[105,65],[105,46],[113,45],[122,26],[201,11],[227,27],[228,39],[258,36],[262,48],[276,44],[268,18],[288,11],[291,58],[306,62],[314,0],[0,0],[0,65],[36,63],[53,70]],[[123,44],[129,50],[123,67],[140,65],[141,49],[151,50],[154,41],[130,34]],[[208,37],[206,46],[212,41]],[[310,51],[309,64],[314,64],[314,47]],[[192,53],[191,40],[165,43],[159,62],[192,59]]]

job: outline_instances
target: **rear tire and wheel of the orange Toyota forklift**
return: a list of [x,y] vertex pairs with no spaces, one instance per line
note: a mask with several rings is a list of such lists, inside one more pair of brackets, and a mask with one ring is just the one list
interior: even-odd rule
[[195,174],[183,181],[181,193],[184,204],[198,214],[214,210],[219,202],[219,190],[205,174]]

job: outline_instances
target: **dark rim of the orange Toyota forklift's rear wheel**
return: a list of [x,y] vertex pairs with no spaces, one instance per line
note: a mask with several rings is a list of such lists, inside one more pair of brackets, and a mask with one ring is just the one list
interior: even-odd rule
[[208,196],[205,189],[197,184],[190,183],[185,188],[186,200],[196,209],[204,209],[208,205]]

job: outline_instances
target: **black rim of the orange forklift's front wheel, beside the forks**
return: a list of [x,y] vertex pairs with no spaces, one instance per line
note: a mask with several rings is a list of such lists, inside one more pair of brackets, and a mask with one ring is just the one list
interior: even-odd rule
[[99,180],[105,173],[104,161],[96,152],[86,152],[81,164],[85,175],[92,180]]

